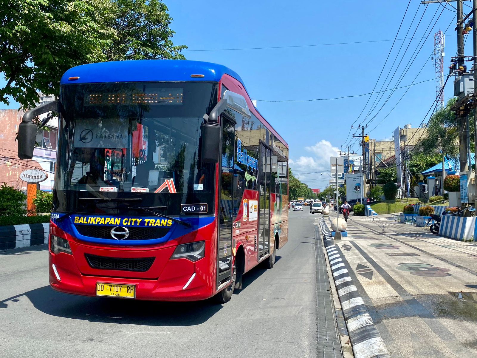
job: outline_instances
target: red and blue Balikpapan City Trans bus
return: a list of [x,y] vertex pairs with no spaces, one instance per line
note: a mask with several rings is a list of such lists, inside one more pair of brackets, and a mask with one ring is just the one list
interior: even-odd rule
[[[288,145],[214,63],[92,63],[63,74],[50,224],[53,289],[161,301],[240,289],[288,241]],[[48,120],[48,117],[45,121]]]

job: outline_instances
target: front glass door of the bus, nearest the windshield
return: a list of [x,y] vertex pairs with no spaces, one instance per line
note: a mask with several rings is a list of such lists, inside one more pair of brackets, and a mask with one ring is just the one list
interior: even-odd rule
[[217,242],[217,287],[230,281],[232,272],[232,222],[234,210],[235,123],[225,115],[222,122],[222,157],[219,160],[220,183]]

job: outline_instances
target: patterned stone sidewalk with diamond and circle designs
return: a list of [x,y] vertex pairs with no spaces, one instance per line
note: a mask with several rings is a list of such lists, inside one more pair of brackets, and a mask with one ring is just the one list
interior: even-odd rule
[[338,243],[393,358],[477,357],[477,244],[389,221]]

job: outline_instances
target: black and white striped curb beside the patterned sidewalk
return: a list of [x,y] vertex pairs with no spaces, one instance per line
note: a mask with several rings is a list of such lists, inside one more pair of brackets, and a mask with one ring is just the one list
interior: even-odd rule
[[[325,224],[326,225],[326,224]],[[353,284],[349,271],[342,261],[337,245],[326,247],[336,291],[340,298],[343,316],[355,358],[390,358],[383,338],[374,326],[373,318],[364,305],[363,298]]]

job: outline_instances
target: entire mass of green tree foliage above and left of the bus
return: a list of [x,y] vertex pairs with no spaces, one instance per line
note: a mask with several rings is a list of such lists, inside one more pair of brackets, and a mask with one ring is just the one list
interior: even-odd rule
[[37,90],[58,95],[61,75],[83,63],[184,59],[171,21],[158,0],[1,0],[0,102],[31,108]]

